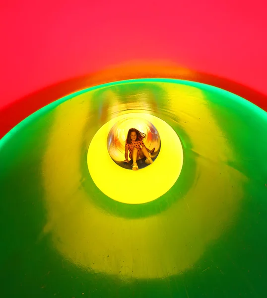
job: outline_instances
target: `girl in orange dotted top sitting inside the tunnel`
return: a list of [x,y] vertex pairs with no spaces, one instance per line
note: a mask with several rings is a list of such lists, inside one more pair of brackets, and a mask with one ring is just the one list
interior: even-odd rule
[[[151,159],[149,153],[153,153],[155,148],[152,150],[147,149],[144,146],[143,138],[145,134],[140,133],[137,129],[131,128],[127,135],[127,140],[125,144],[125,160],[129,163],[128,150],[130,151],[129,157],[133,159],[133,170],[138,170],[136,160],[146,157],[145,163],[151,164],[153,160]],[[141,148],[142,147],[142,148]]]

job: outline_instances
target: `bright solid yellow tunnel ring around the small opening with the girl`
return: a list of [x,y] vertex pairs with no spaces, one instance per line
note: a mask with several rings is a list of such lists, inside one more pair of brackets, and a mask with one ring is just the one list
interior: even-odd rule
[[[123,120],[130,122],[132,117],[153,123],[160,136],[160,145],[156,146],[157,151],[160,148],[160,153],[156,161],[137,173],[118,166],[107,148],[108,135],[112,128]],[[129,127],[132,126],[130,123]],[[141,129],[138,126],[137,128]],[[126,131],[128,132],[127,129]],[[125,142],[124,134],[122,136]],[[123,161],[124,153],[120,154]],[[182,165],[183,148],[177,133],[164,120],[145,113],[129,113],[111,119],[95,133],[87,151],[87,166],[95,185],[109,198],[126,204],[148,203],[165,194],[177,181]],[[133,185],[148,187],[143,187],[142,195],[138,195],[135,191],[129,191]]]

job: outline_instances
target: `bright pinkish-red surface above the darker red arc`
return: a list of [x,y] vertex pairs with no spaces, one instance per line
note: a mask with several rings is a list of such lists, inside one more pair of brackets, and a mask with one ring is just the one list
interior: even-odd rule
[[0,109],[125,62],[166,61],[267,95],[265,0],[14,0],[0,4]]

